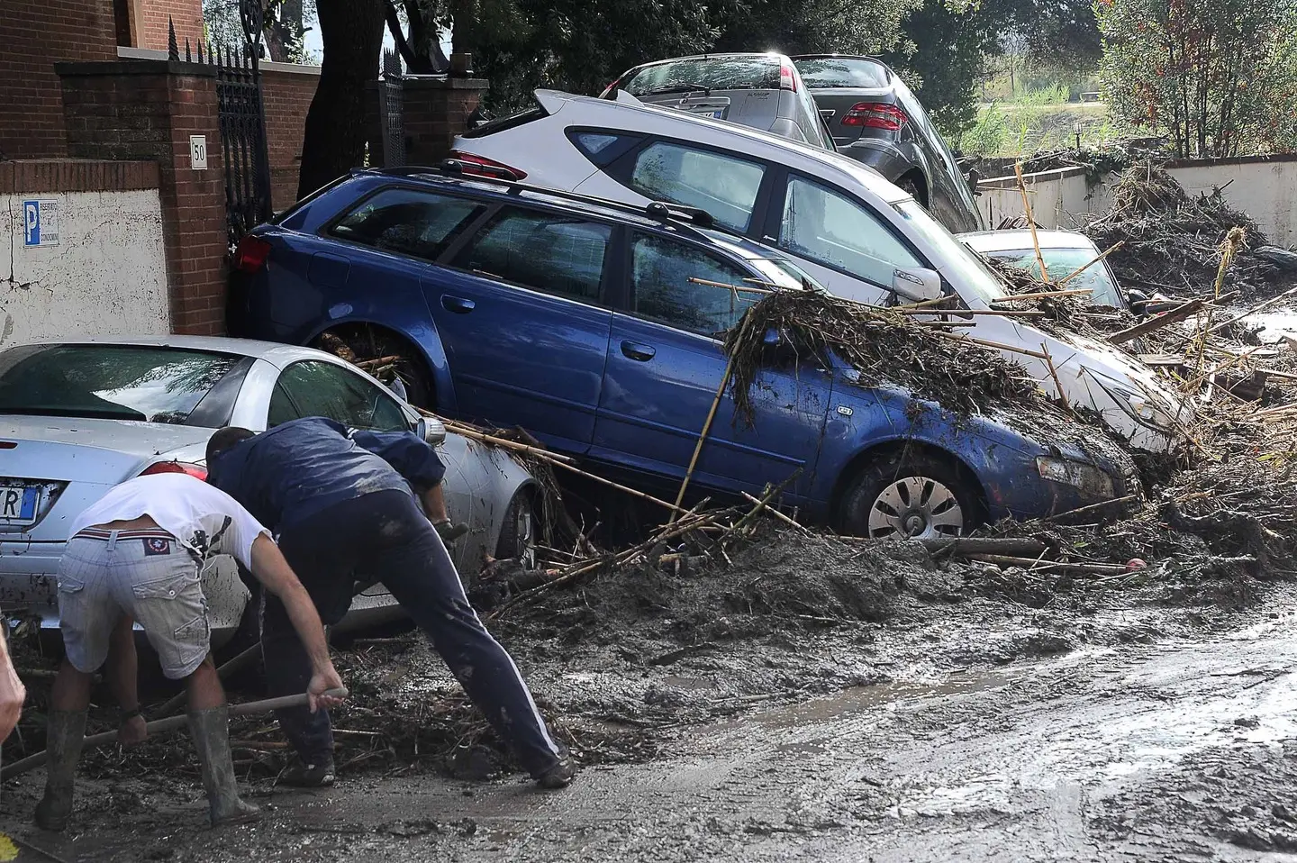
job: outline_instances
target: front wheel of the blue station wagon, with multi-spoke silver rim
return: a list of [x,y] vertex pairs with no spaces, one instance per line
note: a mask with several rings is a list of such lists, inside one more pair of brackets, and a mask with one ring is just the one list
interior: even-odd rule
[[839,528],[872,539],[942,539],[983,517],[977,480],[929,453],[892,453],[864,466],[842,496]]

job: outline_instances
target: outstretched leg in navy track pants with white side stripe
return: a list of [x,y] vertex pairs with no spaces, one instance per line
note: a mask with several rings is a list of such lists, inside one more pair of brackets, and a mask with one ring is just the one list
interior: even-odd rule
[[[414,498],[367,494],[388,529],[384,546],[366,566],[381,574],[392,596],[432,641],[464,692],[542,784],[571,779],[564,750],[554,742],[518,666],[486,632],[464,596],[459,574]],[[558,771],[558,773],[555,773]]]

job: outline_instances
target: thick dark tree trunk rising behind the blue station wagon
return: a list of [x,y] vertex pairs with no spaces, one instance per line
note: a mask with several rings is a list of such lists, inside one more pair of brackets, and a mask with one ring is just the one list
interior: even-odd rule
[[364,84],[379,75],[383,0],[318,0],[324,58],[306,114],[297,197],[364,162]]

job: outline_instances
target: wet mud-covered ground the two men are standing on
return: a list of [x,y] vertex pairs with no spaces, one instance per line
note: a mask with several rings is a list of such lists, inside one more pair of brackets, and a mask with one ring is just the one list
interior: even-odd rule
[[790,533],[730,558],[607,575],[490,623],[585,763],[571,789],[540,793],[512,772],[409,635],[337,654],[354,693],[335,719],[337,786],[275,788],[274,723],[236,722],[258,827],[205,829],[183,736],[87,755],[64,837],[29,825],[42,771],[5,784],[0,824],[64,860],[1297,847],[1288,583],[1188,566],[1066,580]]

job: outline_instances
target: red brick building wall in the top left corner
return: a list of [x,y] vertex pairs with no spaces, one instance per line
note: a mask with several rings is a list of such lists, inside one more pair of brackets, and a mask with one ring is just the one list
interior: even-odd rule
[[0,157],[65,156],[54,61],[117,56],[113,0],[3,0],[0,47]]

